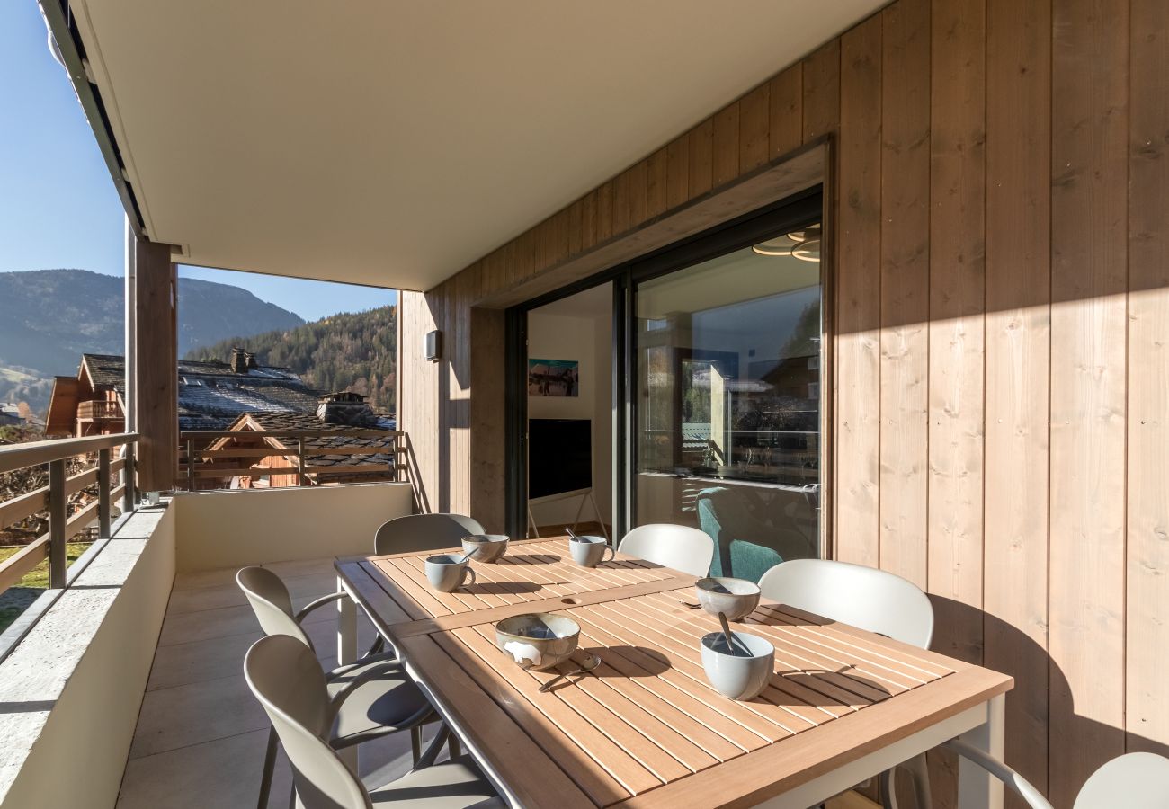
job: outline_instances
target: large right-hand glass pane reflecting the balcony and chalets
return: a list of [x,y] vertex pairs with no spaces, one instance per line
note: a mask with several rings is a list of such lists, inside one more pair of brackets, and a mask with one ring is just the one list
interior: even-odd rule
[[[637,285],[637,525],[692,525],[712,575],[818,555],[818,226]],[[795,248],[794,250],[791,248]]]

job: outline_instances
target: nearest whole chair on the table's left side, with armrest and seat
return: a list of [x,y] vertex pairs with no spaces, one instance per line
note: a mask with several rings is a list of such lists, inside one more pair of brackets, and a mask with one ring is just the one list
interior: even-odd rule
[[[285,635],[256,641],[243,662],[244,678],[272,722],[292,765],[297,805],[303,809],[494,809],[505,804],[469,755],[435,763],[450,731],[438,728],[414,768],[367,788],[328,741],[336,714],[352,691],[330,693],[312,650]],[[359,682],[351,685],[360,687]]]

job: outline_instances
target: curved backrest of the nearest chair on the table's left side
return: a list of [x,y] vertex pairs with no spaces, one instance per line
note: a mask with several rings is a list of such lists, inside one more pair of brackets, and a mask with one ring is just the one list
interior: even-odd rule
[[332,712],[312,650],[284,635],[263,637],[248,650],[243,673],[292,763],[298,805],[369,809],[369,794],[324,740]]

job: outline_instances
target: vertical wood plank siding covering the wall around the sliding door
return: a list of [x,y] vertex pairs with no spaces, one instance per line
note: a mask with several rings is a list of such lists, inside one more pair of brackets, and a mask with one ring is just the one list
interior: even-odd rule
[[1167,26],[1163,0],[899,0],[403,293],[422,507],[503,527],[492,296],[828,136],[836,556],[927,588],[934,645],[1016,678],[1007,758],[1057,805],[1169,753]]

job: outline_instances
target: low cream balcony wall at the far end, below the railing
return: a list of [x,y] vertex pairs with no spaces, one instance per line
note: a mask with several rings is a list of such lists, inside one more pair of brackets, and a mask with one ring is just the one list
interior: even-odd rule
[[410,484],[240,489],[175,495],[179,573],[373,551],[386,520],[413,511]]

